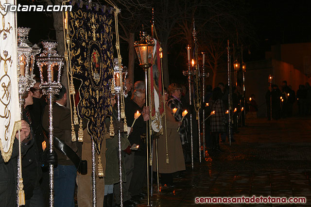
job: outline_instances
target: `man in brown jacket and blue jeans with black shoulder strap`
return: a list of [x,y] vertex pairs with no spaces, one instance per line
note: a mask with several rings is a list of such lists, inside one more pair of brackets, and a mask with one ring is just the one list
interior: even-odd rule
[[[66,143],[79,157],[81,157],[81,144],[71,141],[71,114],[66,108],[67,93],[63,86],[58,95],[55,96],[53,105],[53,127],[54,136],[61,142]],[[43,111],[42,126],[49,130],[49,107]],[[78,127],[75,126],[76,137]],[[73,162],[61,151],[54,148],[58,156],[58,166],[54,168],[54,205],[56,207],[74,207],[74,188],[77,169]]]

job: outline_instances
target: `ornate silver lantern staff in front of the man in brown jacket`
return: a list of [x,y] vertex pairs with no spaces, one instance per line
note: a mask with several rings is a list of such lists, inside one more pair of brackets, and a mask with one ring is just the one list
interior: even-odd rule
[[[53,152],[53,108],[54,95],[62,88],[60,76],[63,66],[63,57],[57,54],[57,42],[42,42],[44,50],[36,58],[40,71],[40,88],[49,99],[49,150]],[[49,165],[50,207],[54,206],[54,166]]]

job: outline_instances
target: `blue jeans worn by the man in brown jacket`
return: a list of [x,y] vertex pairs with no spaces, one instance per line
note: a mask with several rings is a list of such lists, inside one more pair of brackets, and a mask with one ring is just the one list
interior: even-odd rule
[[74,207],[74,188],[77,169],[74,165],[58,165],[54,168],[55,207]]

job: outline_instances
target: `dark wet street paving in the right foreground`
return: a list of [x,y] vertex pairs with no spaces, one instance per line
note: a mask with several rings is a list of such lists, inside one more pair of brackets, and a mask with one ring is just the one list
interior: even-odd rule
[[[311,206],[310,117],[247,120],[246,125],[234,134],[236,142],[231,146],[221,143],[224,152],[213,156],[206,152],[206,159],[195,162],[193,171],[188,164],[182,178],[174,178],[174,188],[157,192],[154,185],[150,204],[186,207],[195,205],[194,198],[201,196],[270,195],[306,197],[304,206]],[[145,205],[146,199],[138,206]]]

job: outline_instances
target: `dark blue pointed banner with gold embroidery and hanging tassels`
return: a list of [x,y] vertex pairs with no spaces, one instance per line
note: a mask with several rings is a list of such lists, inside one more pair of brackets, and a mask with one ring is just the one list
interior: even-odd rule
[[111,114],[109,80],[113,74],[112,10],[73,7],[69,12],[72,76],[81,80],[78,113],[89,120],[87,130],[100,154],[106,115]]

